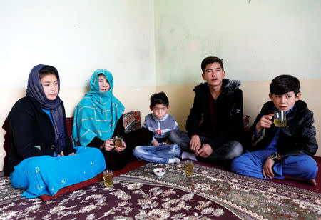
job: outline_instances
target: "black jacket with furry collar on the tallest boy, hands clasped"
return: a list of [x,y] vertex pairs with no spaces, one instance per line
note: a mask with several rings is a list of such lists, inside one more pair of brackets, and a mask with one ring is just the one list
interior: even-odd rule
[[[240,81],[223,79],[222,92],[217,104],[217,133],[210,136],[213,139],[210,146],[218,146],[228,140],[240,140],[240,136],[244,131],[243,126],[243,96],[242,90],[238,87]],[[186,130],[191,136],[198,134],[199,136],[208,136],[210,129],[210,105],[209,97],[210,89],[208,83],[199,84],[193,89],[195,98],[190,115],[186,121]]]

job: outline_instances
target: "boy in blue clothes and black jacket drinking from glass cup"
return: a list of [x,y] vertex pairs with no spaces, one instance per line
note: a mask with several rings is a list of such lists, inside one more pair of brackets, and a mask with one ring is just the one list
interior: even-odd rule
[[[232,171],[262,179],[300,179],[316,185],[317,163],[311,156],[317,152],[313,113],[300,99],[300,81],[280,75],[270,84],[270,99],[250,128],[252,142],[265,135],[255,146],[232,162]],[[286,111],[287,124],[276,127],[273,112]]]

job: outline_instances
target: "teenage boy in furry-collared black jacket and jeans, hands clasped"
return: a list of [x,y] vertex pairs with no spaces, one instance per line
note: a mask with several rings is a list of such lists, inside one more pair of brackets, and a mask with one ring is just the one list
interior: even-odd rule
[[188,133],[172,131],[170,141],[189,151],[183,152],[183,159],[228,167],[243,152],[238,142],[244,130],[240,81],[224,79],[223,61],[218,57],[203,59],[201,68],[206,82],[193,89],[194,104],[186,122]]

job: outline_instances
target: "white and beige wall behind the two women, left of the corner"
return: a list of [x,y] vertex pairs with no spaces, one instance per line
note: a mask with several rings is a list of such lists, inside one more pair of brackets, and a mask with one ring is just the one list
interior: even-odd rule
[[[126,111],[138,109],[139,102],[147,114],[156,90],[153,26],[149,0],[0,0],[0,124],[24,96],[36,64],[58,69],[67,116],[73,116],[91,74],[100,68],[113,73],[114,94]],[[0,147],[0,170],[3,159]]]

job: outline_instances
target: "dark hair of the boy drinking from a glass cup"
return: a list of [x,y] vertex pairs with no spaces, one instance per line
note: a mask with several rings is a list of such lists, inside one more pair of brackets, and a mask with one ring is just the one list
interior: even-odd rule
[[300,92],[300,81],[295,76],[280,75],[275,77],[270,84],[270,94],[282,95],[293,91],[295,96]]

